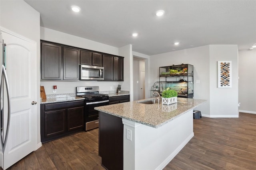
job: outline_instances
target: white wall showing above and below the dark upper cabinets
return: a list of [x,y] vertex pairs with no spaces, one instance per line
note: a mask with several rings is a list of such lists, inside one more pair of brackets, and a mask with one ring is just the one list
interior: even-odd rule
[[[46,41],[51,41],[55,43],[61,43],[65,45],[70,45],[74,47],[80,47],[83,49],[99,51],[103,53],[108,53],[112,55],[120,55],[122,57],[127,57],[126,53],[130,53],[129,51],[124,51],[119,54],[119,49],[117,47],[113,47],[110,45],[105,45],[102,43],[98,43],[96,41],[91,41],[89,39],[77,37],[74,35],[70,35],[67,33],[62,33],[60,31],[55,31],[53,29],[48,29],[45,27],[40,27],[41,30],[41,39]],[[129,56],[129,55],[128,55]],[[126,65],[128,60],[124,58],[124,65]],[[124,70],[126,72],[126,70]],[[124,81],[128,82],[130,75],[124,74]],[[77,86],[99,86],[100,91],[109,91],[116,90],[118,84],[122,84],[122,82],[106,82],[106,81],[95,81],[95,80],[81,80],[81,81],[51,81],[51,80],[42,80],[41,86],[44,86],[46,94],[54,94],[53,86],[57,86],[56,94],[61,93],[75,93]],[[121,90],[130,91],[129,87],[121,87]]]

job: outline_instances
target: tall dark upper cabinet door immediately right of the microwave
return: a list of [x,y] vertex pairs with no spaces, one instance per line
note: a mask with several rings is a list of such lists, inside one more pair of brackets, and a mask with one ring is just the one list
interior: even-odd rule
[[104,66],[104,80],[114,80],[114,68],[113,68],[113,57],[103,55],[103,66]]

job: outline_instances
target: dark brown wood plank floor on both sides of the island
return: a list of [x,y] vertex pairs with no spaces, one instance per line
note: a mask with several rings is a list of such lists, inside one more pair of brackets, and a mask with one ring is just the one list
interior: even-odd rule
[[[104,170],[98,156],[98,129],[43,146],[10,170]],[[256,170],[256,115],[194,119],[194,137],[164,170]]]

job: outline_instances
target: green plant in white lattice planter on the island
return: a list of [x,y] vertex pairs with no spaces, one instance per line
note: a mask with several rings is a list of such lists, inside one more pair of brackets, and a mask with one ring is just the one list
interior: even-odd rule
[[170,87],[166,88],[162,92],[162,104],[177,103],[178,93],[175,90],[171,90]]

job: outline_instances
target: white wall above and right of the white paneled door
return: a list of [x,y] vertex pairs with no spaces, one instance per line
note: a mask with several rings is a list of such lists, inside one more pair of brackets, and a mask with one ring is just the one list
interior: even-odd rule
[[[22,1],[0,1],[0,26],[18,33],[37,43],[37,64],[34,67],[37,72],[37,102],[40,103],[40,14],[34,8]],[[37,141],[40,139],[40,104],[37,105]]]

